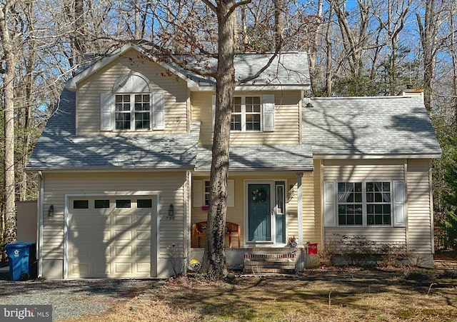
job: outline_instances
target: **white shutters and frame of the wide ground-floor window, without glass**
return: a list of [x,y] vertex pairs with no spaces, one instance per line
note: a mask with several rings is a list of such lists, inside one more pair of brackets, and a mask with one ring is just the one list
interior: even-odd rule
[[[362,225],[340,225],[338,223],[338,183],[362,183]],[[366,183],[367,182],[388,182],[391,185],[391,224],[390,225],[368,225],[366,213]],[[334,180],[323,182],[323,216],[326,227],[354,228],[354,227],[405,227],[405,181],[395,180]]]

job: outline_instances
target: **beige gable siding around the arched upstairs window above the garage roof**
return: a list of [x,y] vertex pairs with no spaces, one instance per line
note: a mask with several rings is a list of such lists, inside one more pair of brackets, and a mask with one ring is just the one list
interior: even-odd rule
[[[188,131],[190,124],[187,108],[189,91],[186,82],[176,75],[168,75],[166,69],[159,64],[138,57],[137,51],[128,51],[116,61],[105,66],[104,69],[78,84],[76,92],[76,134],[100,133],[100,95],[109,93],[119,76],[130,72],[142,74],[149,79],[153,93],[163,93],[165,100],[165,130],[140,133],[178,134]],[[111,131],[101,133],[116,134],[116,132]],[[139,132],[127,133],[138,134]]]

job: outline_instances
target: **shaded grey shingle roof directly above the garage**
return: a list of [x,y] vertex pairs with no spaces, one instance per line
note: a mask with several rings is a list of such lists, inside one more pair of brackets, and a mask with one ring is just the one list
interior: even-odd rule
[[200,124],[191,134],[75,135],[75,93],[64,90],[27,169],[194,168]]

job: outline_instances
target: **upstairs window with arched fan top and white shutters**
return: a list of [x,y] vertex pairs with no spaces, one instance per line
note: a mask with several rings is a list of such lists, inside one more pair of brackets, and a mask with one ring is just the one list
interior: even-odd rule
[[101,94],[101,131],[148,131],[164,127],[164,94],[152,92],[143,75],[121,76],[111,93]]

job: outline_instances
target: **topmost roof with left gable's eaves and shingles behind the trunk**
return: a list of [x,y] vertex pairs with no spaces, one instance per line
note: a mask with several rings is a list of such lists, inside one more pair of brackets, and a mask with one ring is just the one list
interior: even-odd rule
[[[216,81],[211,77],[203,77],[191,71],[181,68],[171,62],[166,62],[166,57],[160,57],[149,54],[144,47],[136,45],[124,45],[116,49],[109,56],[104,57],[100,61],[88,66],[72,79],[67,81],[66,88],[76,90],[76,86],[80,81],[94,74],[96,71],[104,68],[104,66],[118,59],[120,56],[130,50],[139,51],[139,53],[149,56],[151,61],[161,65],[164,69],[171,71],[186,81],[191,91],[215,91]],[[246,79],[247,77],[255,75],[260,71],[263,66],[266,66],[268,60],[273,54],[236,54],[233,58],[235,65],[235,78],[236,80]],[[217,59],[204,58],[196,59],[195,57],[180,56],[179,59],[186,59],[186,64],[194,69],[212,70],[217,68]],[[308,55],[306,52],[285,52],[280,53],[273,59],[268,69],[258,76],[253,81],[238,86],[236,90],[256,90],[256,89],[278,89],[286,87],[287,89],[311,89],[311,80],[309,78]]]

